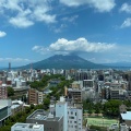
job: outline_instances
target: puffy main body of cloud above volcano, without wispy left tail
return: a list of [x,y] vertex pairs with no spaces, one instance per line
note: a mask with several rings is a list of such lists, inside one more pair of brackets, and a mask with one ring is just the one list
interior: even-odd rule
[[55,51],[100,52],[114,47],[114,44],[90,43],[85,38],[78,38],[76,40],[60,38],[55,44],[51,44],[49,48]]

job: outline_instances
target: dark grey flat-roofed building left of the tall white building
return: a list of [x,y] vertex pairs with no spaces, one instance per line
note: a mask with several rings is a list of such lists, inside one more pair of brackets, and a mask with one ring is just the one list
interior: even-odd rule
[[63,131],[63,117],[57,117],[43,109],[37,109],[26,118],[26,123],[44,124],[45,131]]

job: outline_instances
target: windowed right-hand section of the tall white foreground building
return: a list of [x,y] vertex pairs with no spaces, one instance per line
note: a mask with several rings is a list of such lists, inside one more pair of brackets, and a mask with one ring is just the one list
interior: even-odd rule
[[82,108],[68,107],[68,131],[82,131]]

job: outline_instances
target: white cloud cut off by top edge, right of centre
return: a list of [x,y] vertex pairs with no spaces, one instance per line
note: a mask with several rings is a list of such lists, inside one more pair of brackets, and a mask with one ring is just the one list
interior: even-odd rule
[[68,7],[88,4],[98,12],[109,12],[116,5],[115,0],[60,0],[60,2]]

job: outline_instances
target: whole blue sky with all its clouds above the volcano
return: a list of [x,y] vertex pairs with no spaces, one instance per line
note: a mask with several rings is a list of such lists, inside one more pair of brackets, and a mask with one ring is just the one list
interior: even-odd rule
[[0,0],[0,67],[53,55],[131,62],[131,1]]

